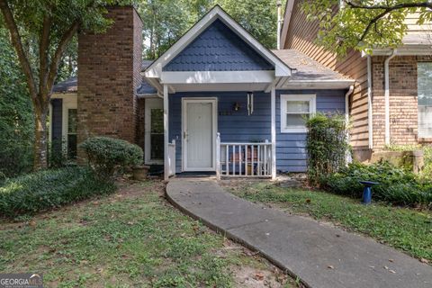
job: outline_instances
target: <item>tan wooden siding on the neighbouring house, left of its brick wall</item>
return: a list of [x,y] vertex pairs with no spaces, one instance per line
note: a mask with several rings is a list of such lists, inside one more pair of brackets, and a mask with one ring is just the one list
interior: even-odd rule
[[367,115],[367,59],[361,54],[351,51],[345,58],[338,58],[335,53],[323,49],[315,43],[317,33],[320,29],[319,23],[306,20],[302,14],[299,4],[304,0],[295,1],[293,14],[284,49],[297,49],[308,55],[322,65],[329,67],[339,73],[356,79],[354,93],[350,96],[349,110],[353,122],[350,130],[351,145],[356,149],[368,149],[368,115]]

